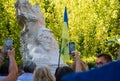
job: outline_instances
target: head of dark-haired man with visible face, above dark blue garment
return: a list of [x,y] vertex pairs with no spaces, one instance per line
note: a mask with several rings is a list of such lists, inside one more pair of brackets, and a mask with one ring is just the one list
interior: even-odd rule
[[112,58],[110,55],[101,53],[97,56],[96,65],[98,67],[103,66],[109,62],[112,62]]

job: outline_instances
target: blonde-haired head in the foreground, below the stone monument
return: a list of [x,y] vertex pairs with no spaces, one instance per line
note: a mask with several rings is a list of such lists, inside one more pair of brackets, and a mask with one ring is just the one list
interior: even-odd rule
[[34,81],[55,81],[55,78],[48,66],[41,66],[35,71]]

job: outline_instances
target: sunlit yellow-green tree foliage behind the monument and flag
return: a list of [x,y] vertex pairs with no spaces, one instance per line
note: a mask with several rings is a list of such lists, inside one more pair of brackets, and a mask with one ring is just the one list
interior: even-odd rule
[[[12,37],[16,48],[16,59],[21,59],[20,31],[14,3],[16,0],[1,0],[0,3],[0,46],[4,39]],[[51,29],[60,45],[64,7],[68,8],[70,41],[76,42],[82,56],[95,56],[106,52],[116,57],[120,38],[119,0],[30,0],[39,3],[44,13],[46,27]],[[114,43],[109,43],[109,40]]]

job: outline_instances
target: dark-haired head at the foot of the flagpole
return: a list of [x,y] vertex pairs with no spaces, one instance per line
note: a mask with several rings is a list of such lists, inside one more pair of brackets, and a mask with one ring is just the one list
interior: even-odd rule
[[74,71],[68,66],[58,67],[55,71],[56,81],[60,81],[63,76],[65,76],[71,72],[74,72]]

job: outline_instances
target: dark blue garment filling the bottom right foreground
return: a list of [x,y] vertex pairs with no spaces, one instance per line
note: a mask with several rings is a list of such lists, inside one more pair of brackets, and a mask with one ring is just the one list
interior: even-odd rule
[[66,75],[61,81],[120,81],[120,60],[90,71]]

